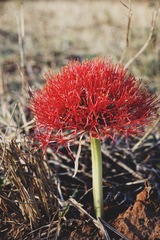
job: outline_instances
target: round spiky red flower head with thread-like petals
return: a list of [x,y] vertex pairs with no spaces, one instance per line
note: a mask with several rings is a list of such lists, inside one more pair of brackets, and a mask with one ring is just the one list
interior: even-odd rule
[[140,134],[158,109],[157,96],[140,80],[103,59],[70,62],[45,78],[43,89],[31,99],[44,148],[72,142],[83,133],[98,139]]

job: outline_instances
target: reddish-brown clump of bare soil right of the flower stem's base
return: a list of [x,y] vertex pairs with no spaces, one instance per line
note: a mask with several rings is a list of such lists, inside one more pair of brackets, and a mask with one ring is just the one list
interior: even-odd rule
[[129,239],[160,239],[160,206],[157,192],[146,187],[136,202],[114,221],[114,227]]

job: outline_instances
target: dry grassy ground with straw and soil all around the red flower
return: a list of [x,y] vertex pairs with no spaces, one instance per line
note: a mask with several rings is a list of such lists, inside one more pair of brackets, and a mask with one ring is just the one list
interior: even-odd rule
[[40,88],[46,70],[93,57],[128,64],[150,36],[128,68],[159,94],[159,15],[152,21],[158,4],[0,1],[0,239],[160,239],[159,119],[129,146],[124,138],[103,143],[105,209],[96,220],[89,143],[82,143],[73,178],[66,149],[44,157],[33,142],[28,109],[28,86]]

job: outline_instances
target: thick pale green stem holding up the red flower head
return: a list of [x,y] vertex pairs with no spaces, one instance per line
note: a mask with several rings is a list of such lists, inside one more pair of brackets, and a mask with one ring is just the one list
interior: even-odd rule
[[96,217],[103,216],[102,153],[100,141],[91,137],[92,187]]

